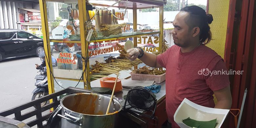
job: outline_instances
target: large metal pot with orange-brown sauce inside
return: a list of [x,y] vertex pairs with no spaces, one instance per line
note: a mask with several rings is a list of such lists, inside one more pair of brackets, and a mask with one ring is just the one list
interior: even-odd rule
[[61,128],[114,128],[122,104],[113,98],[106,115],[109,96],[77,93],[61,99]]

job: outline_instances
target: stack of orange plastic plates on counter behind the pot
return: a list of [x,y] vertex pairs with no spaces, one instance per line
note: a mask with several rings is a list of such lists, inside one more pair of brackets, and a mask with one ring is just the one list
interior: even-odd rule
[[[100,78],[100,86],[104,88],[110,88],[113,90],[114,85],[115,85],[116,78],[115,77],[102,77]],[[117,85],[115,92],[119,92],[123,89],[121,79],[117,79]]]

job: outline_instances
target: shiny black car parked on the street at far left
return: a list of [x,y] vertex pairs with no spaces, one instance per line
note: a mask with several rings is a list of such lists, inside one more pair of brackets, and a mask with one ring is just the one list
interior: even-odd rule
[[17,29],[0,29],[0,61],[36,55],[44,50],[43,39]]

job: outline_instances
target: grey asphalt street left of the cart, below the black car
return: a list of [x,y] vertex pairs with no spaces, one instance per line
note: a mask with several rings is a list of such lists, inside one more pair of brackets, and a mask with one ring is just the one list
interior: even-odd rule
[[[57,58],[58,52],[54,51],[53,54]],[[39,74],[35,64],[41,63],[40,58],[36,56],[12,58],[0,62],[0,112],[31,101],[31,93],[35,89],[34,77]],[[21,114],[33,110],[34,107],[30,107],[21,111]],[[48,112],[45,111],[43,114]],[[27,123],[32,118],[23,122]]]

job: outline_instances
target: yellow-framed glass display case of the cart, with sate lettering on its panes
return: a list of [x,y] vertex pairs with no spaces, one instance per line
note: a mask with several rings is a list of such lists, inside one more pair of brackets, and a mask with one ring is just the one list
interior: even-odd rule
[[[83,88],[91,89],[90,65],[118,55],[116,43],[132,40],[134,46],[146,52],[161,49],[164,1],[39,0],[39,3],[45,53],[58,63],[52,67],[51,59],[46,60],[49,94],[54,92],[54,85],[63,83],[61,80],[70,81],[67,86],[82,87],[79,82],[83,82]],[[139,11],[147,8],[159,10],[152,15],[152,20],[159,19],[153,26],[138,18]],[[87,37],[90,32],[92,35]]]

